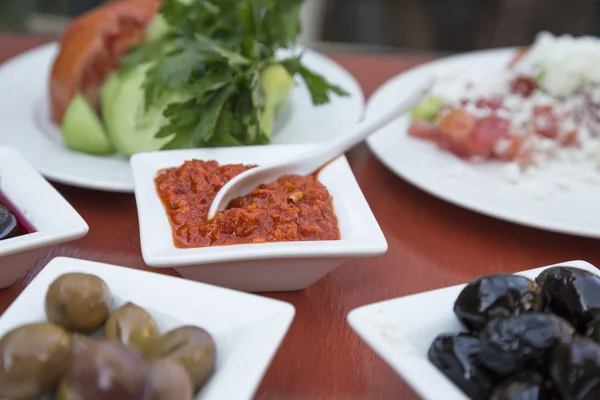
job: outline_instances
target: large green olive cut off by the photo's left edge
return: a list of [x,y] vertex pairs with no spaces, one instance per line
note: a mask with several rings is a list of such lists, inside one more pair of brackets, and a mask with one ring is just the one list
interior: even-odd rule
[[70,363],[70,338],[64,329],[45,322],[16,328],[0,340],[0,398],[49,393]]

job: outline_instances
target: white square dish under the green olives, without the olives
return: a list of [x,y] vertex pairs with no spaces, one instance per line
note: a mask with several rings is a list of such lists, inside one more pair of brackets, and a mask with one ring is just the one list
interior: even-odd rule
[[55,258],[0,317],[0,336],[44,321],[50,284],[69,272],[103,279],[115,308],[131,301],[146,309],[161,332],[183,325],[206,329],[215,339],[215,373],[196,400],[251,399],[279,348],[295,309],[291,304],[152,272],[73,258]]

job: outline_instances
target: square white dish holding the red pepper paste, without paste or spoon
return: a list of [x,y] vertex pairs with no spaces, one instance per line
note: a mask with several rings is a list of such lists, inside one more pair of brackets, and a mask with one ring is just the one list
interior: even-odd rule
[[304,289],[348,258],[387,251],[377,224],[345,157],[327,165],[319,180],[333,197],[341,240],[175,247],[171,225],[154,178],[158,171],[186,160],[221,164],[264,164],[285,160],[310,146],[255,146],[161,151],[131,158],[144,261],[151,267],[174,267],[185,278],[249,292]]

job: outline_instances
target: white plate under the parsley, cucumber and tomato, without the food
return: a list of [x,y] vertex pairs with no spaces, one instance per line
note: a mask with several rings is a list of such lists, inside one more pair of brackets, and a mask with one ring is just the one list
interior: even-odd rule
[[[127,160],[68,150],[49,119],[48,79],[57,46],[28,51],[0,67],[0,143],[19,149],[45,177],[90,189],[133,192]],[[343,87],[350,97],[332,96],[315,107],[303,82],[297,82],[273,134],[273,143],[320,143],[331,140],[361,117],[364,98],[354,77],[331,59],[311,50],[306,65]]]

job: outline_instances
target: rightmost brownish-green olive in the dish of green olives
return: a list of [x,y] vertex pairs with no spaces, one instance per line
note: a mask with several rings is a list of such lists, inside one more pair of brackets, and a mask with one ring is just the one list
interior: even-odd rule
[[183,326],[160,336],[150,351],[153,360],[179,362],[192,378],[194,390],[199,390],[212,375],[217,352],[207,331],[196,326]]

